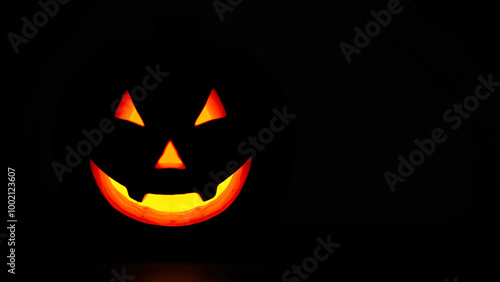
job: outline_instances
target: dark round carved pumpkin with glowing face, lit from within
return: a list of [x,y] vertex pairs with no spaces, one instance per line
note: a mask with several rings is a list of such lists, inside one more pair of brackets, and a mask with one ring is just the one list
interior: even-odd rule
[[[188,241],[192,228],[206,230],[206,238],[248,232],[278,208],[292,173],[291,125],[272,141],[265,135],[265,144],[248,138],[269,126],[274,108],[281,111],[281,90],[247,54],[179,42],[117,41],[72,76],[58,105],[57,159],[66,145],[87,140],[82,129],[92,132],[103,119],[114,128],[64,175],[61,194],[78,215],[72,220],[126,228],[120,240],[154,226],[185,226],[174,232]],[[157,65],[169,76],[138,99],[146,67]]]

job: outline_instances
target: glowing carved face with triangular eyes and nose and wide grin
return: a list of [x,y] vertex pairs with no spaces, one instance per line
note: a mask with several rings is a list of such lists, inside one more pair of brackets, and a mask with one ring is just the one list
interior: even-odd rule
[[[205,105],[195,119],[193,127],[226,118],[226,110],[215,89],[212,89]],[[128,91],[123,95],[115,112],[115,118],[146,127],[137,111]],[[94,179],[106,200],[119,212],[144,223],[163,226],[182,226],[205,221],[212,218],[231,205],[238,196],[250,170],[251,158],[217,185],[216,193],[211,199],[203,200],[200,194],[189,192],[183,194],[147,193],[142,201],[129,196],[127,187],[109,177],[99,166],[90,160]],[[168,140],[161,155],[154,164],[154,169],[186,170],[174,142]]]

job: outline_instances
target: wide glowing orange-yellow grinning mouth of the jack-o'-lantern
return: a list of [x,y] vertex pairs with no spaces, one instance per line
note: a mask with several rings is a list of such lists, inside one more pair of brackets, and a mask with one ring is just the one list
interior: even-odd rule
[[127,187],[104,173],[92,160],[94,179],[106,200],[116,210],[140,222],[162,226],[184,226],[199,223],[226,210],[245,183],[252,159],[217,186],[215,196],[203,201],[198,193],[176,195],[146,194],[142,202],[128,195]]

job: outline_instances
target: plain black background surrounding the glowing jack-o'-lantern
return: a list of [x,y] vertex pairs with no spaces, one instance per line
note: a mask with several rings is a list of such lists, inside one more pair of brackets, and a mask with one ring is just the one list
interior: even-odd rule
[[[499,90],[456,131],[442,114],[474,93],[479,75],[500,80],[499,6],[402,1],[403,11],[348,64],[339,44],[353,44],[353,28],[363,29],[370,10],[386,5],[243,1],[221,21],[210,1],[71,1],[15,54],[6,34],[21,34],[21,17],[40,8],[9,1],[2,109],[4,159],[16,169],[16,278],[110,281],[111,270],[125,266],[134,281],[281,281],[312,255],[318,236],[331,235],[341,246],[308,281],[498,281]],[[196,19],[202,24],[195,38],[255,58],[297,114],[273,143],[286,146],[263,152],[262,167],[286,159],[287,170],[275,167],[283,180],[262,185],[263,195],[283,193],[275,209],[262,206],[259,220],[235,202],[234,213],[213,223],[148,226],[107,205],[85,164],[62,184],[51,169],[64,159],[64,146],[75,144],[61,140],[58,127],[61,101],[75,98],[66,91],[73,75],[115,40],[183,34],[185,25],[152,28],[153,19],[167,17]],[[78,126],[76,132],[95,127]],[[448,140],[392,193],[383,173],[396,172],[397,156],[407,157],[413,140],[437,127]],[[246,185],[258,189],[272,171],[255,173]],[[89,189],[81,193],[88,210],[82,199],[69,201],[68,194],[79,194],[66,189]],[[227,241],[216,245],[213,234],[204,235],[212,231]],[[206,243],[189,247],[193,234]]]

